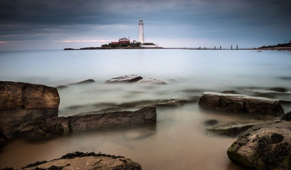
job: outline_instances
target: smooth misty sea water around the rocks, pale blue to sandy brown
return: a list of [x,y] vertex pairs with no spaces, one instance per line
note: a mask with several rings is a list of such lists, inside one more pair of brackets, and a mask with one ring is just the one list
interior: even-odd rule
[[[92,78],[96,83],[59,90],[59,116],[145,99],[197,99],[204,91],[254,87],[291,89],[291,52],[253,50],[36,50],[1,51],[0,80],[56,86]],[[167,85],[103,84],[109,78],[138,74]],[[170,82],[179,78],[181,82]],[[283,96],[289,99],[290,96]],[[289,99],[290,100],[290,99]],[[290,111],[290,107],[285,107]],[[207,113],[197,103],[157,110],[155,125],[86,132],[42,142],[15,140],[2,149],[0,166],[20,168],[72,151],[123,155],[143,169],[238,169],[226,150],[235,137],[207,134],[203,122],[233,122],[245,115]],[[0,167],[0,168],[1,168]]]

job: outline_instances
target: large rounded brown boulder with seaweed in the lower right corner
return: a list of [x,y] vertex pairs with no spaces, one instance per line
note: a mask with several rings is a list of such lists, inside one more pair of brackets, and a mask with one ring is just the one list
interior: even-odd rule
[[248,129],[227,154],[246,169],[291,169],[290,143],[290,122],[267,122]]

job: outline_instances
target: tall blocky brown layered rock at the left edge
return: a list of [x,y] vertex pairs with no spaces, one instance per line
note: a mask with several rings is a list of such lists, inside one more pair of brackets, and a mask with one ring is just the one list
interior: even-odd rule
[[45,119],[57,117],[59,103],[54,87],[0,81],[0,131],[7,139],[23,136]]

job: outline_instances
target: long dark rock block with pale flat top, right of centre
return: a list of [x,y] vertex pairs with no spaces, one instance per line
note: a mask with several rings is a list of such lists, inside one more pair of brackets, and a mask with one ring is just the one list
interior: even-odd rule
[[200,107],[222,112],[240,112],[264,115],[283,114],[278,100],[264,97],[251,97],[242,94],[204,92],[198,104]]

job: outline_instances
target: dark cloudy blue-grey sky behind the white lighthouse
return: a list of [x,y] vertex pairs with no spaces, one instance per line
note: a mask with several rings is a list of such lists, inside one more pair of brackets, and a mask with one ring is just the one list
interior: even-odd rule
[[129,37],[161,47],[260,47],[291,40],[290,0],[0,0],[0,50],[100,47]]

